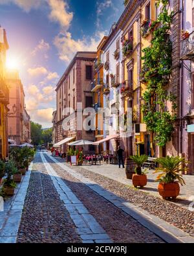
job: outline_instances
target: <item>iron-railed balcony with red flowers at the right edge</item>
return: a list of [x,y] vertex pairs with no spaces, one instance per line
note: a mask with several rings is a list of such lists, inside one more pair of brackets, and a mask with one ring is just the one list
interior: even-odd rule
[[181,41],[180,60],[192,60],[194,58],[194,31],[184,34]]

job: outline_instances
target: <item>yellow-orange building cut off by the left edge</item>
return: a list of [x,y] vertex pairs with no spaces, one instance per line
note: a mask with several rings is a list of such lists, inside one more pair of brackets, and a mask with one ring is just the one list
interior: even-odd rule
[[5,83],[5,62],[8,42],[5,29],[0,27],[0,158],[8,156],[7,105],[9,103],[9,89]]

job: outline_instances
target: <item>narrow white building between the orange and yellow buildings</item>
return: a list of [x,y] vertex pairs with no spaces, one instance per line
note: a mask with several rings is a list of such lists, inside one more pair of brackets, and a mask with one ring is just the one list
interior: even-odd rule
[[[103,45],[103,106],[109,111],[109,118],[103,122],[103,135],[107,141],[103,142],[104,151],[107,154],[115,154],[119,137],[119,113],[121,113],[122,102],[120,88],[122,86],[122,31],[113,24],[109,36]],[[113,139],[112,139],[113,138]]]

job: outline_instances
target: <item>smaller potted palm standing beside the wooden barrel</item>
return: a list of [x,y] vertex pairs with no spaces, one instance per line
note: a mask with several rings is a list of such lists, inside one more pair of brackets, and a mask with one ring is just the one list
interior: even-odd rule
[[136,163],[135,174],[133,174],[133,186],[144,187],[147,184],[146,170],[142,170],[142,164],[147,161],[148,156],[130,156],[130,159]]

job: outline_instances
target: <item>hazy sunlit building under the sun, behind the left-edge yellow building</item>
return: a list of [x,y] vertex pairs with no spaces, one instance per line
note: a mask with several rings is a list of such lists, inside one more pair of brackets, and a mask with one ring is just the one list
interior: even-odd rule
[[16,70],[6,71],[6,83],[10,88],[8,111],[8,138],[16,145],[30,143],[30,116],[25,110],[25,92]]

